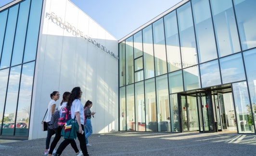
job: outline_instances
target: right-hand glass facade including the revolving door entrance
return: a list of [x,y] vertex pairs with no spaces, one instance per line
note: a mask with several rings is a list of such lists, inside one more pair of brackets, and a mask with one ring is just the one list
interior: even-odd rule
[[189,0],[120,41],[120,131],[255,133],[254,6]]

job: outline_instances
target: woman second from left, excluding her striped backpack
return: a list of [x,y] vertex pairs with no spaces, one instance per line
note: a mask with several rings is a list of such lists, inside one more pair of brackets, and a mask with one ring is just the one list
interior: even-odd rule
[[[71,94],[70,92],[65,92],[63,94],[62,102],[61,102],[61,104],[60,104],[60,106],[58,108],[59,112],[60,112],[60,116],[62,115],[62,108],[66,107],[66,105],[67,105],[67,101],[69,99],[70,94]],[[68,112],[66,112],[66,113],[68,113]],[[52,155],[53,149],[56,147],[57,143],[61,139],[61,131],[62,131],[62,129],[63,129],[63,126],[58,126],[56,129],[54,129],[54,131],[56,133],[55,133],[55,137],[54,137],[53,141],[51,142],[51,147],[50,147],[50,151],[49,151],[48,156]],[[72,148],[75,150],[76,155],[77,156],[82,156],[82,151],[78,150],[76,141],[72,140],[70,142],[70,144],[71,144]]]

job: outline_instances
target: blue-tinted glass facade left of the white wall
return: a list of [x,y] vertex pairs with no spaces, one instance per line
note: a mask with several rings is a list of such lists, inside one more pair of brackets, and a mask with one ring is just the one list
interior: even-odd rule
[[0,135],[28,137],[42,0],[0,12]]

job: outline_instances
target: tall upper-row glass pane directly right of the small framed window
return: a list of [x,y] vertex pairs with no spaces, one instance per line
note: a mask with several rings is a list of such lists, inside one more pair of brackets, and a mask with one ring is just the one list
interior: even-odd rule
[[152,25],[142,30],[145,79],[154,77],[154,51]]

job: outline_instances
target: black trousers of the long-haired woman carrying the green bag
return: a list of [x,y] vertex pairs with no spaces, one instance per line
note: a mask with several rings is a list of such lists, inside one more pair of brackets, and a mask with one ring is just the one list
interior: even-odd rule
[[[81,125],[82,126],[82,130],[84,131],[84,125]],[[79,140],[79,144],[80,144],[80,148],[83,152],[83,155],[84,156],[89,156],[88,152],[87,152],[87,146],[86,146],[86,143],[85,143],[85,134],[81,134],[79,132],[77,132],[77,138]],[[64,149],[66,148],[66,146],[68,144],[70,144],[72,142],[71,139],[65,139],[59,146],[59,148],[57,149],[56,151],[56,155],[57,156],[60,156],[62,154],[62,152],[64,151]]]

